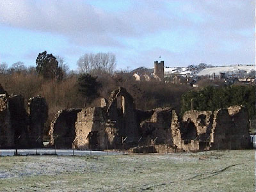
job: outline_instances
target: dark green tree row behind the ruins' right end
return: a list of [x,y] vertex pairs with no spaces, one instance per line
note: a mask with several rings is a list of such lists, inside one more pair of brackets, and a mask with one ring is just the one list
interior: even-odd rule
[[233,84],[231,86],[207,86],[201,90],[191,90],[182,95],[181,113],[191,110],[214,111],[229,106],[243,105],[250,118],[255,119],[255,85]]

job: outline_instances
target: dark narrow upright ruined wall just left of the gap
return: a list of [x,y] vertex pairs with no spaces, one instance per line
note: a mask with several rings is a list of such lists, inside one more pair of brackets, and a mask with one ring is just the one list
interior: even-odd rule
[[44,124],[48,118],[48,106],[43,97],[29,99],[29,140],[31,147],[43,147]]

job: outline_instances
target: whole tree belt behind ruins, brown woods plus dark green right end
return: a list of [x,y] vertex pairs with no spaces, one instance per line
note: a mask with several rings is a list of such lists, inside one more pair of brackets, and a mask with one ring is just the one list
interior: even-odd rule
[[[45,136],[51,120],[60,109],[94,106],[98,97],[108,98],[113,90],[122,86],[131,93],[137,109],[150,110],[171,107],[177,113],[191,109],[215,110],[243,104],[250,116],[255,115],[255,86],[208,86],[193,91],[187,84],[159,81],[135,81],[132,73],[115,71],[115,55],[84,54],[77,61],[78,72],[68,71],[63,58],[47,52],[38,54],[36,67],[25,67],[17,62],[8,68],[0,64],[0,83],[8,93],[30,97],[41,95],[49,106]],[[183,96],[182,96],[183,95]]]

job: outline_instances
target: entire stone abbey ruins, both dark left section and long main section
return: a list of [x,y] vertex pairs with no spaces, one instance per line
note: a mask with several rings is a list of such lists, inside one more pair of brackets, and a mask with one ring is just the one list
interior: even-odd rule
[[[0,148],[43,147],[47,103],[8,95],[0,86]],[[97,106],[58,111],[51,122],[49,147],[90,150],[127,149],[133,152],[174,152],[250,148],[248,115],[243,106],[216,111],[172,108],[141,111],[132,96],[118,88]]]

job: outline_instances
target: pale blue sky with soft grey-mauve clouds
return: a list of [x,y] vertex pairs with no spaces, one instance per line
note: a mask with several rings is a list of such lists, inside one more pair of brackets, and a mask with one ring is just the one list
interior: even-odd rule
[[[40,52],[72,70],[112,52],[116,69],[255,63],[254,0],[1,0],[0,63],[36,66]],[[161,58],[159,58],[161,56]]]

